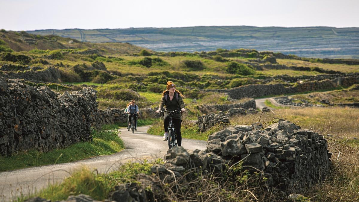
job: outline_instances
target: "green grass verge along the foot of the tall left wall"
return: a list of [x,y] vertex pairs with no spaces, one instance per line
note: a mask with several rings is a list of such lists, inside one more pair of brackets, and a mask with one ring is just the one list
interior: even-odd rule
[[101,130],[92,130],[91,135],[92,142],[79,142],[49,152],[28,150],[12,156],[0,156],[0,171],[73,162],[91,156],[110,155],[124,148],[117,129],[104,126]]

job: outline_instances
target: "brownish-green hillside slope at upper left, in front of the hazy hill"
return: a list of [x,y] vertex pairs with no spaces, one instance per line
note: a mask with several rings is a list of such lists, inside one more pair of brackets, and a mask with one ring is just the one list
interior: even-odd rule
[[6,47],[14,51],[29,51],[33,49],[39,49],[39,50],[95,49],[95,50],[101,50],[107,52],[109,54],[129,54],[129,53],[137,53],[142,49],[141,47],[131,45],[129,43],[81,42],[72,38],[64,38],[61,36],[33,35],[24,31],[14,32],[14,31],[5,31],[4,29],[0,30],[0,40],[5,42]]

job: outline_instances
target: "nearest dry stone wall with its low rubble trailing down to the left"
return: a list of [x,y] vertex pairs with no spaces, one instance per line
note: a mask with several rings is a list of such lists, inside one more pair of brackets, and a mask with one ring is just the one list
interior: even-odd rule
[[183,147],[168,150],[165,162],[151,167],[151,175],[137,175],[141,183],[119,184],[109,194],[108,201],[149,201],[153,197],[165,197],[161,196],[162,184],[173,182],[182,183],[172,188],[173,193],[181,193],[178,189],[185,189],[186,184],[201,183],[201,180],[185,181],[191,173],[189,170],[225,178],[226,169],[239,161],[242,171],[258,172],[267,178],[261,186],[279,188],[290,194],[325,179],[331,166],[330,157],[323,136],[300,129],[290,121],[280,121],[265,130],[236,125],[209,136],[206,150]]

